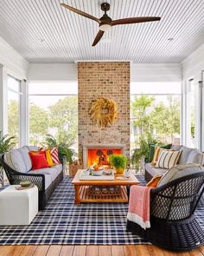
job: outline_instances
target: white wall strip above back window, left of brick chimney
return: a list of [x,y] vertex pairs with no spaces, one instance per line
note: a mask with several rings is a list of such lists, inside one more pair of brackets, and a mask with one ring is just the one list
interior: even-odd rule
[[28,81],[77,81],[77,64],[31,63]]

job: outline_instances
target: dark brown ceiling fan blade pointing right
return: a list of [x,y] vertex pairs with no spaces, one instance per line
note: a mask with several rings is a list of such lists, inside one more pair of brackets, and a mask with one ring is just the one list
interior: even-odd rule
[[160,16],[137,16],[137,17],[128,17],[124,19],[119,19],[112,21],[111,25],[124,25],[124,24],[131,24],[131,23],[148,23],[148,22],[156,22],[160,21]]

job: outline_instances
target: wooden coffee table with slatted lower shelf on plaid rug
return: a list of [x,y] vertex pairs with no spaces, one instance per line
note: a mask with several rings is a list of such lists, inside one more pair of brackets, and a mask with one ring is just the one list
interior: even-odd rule
[[131,172],[130,178],[126,180],[117,180],[121,175],[115,174],[115,179],[112,181],[80,181],[80,173],[78,170],[75,174],[72,184],[75,189],[74,204],[84,202],[127,202],[126,186],[137,185],[139,181]]

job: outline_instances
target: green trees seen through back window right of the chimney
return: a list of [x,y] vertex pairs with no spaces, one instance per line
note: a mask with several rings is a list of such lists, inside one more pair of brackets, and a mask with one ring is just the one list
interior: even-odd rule
[[[180,134],[180,102],[172,95],[167,96],[167,102],[157,102],[154,96],[142,95],[131,103],[133,126],[136,130],[136,147],[150,135],[156,140],[173,142]],[[166,140],[166,141],[165,141]]]

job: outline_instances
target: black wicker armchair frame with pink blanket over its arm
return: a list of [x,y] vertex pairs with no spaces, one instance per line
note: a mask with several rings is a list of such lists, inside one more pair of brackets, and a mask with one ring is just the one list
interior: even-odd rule
[[[204,192],[204,173],[190,174],[150,191],[150,225],[144,230],[127,221],[127,231],[156,246],[185,251],[204,243],[204,231],[194,217]],[[204,218],[204,217],[203,217]]]

